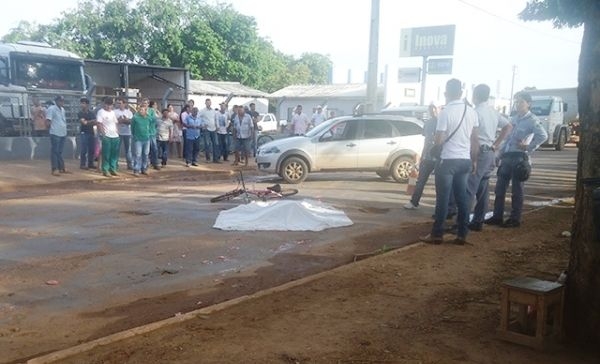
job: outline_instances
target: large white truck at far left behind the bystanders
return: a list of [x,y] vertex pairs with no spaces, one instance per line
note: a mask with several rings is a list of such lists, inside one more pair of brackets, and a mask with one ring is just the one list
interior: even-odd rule
[[90,83],[74,53],[46,43],[0,43],[0,136],[30,136],[32,99],[48,103],[57,95],[65,97],[67,128],[74,135],[79,99]]

